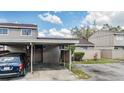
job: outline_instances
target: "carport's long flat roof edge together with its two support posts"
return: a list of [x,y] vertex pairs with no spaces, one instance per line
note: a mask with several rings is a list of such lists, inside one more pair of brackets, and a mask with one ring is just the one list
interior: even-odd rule
[[[78,39],[75,38],[37,38],[37,39],[4,39],[0,40],[1,45],[24,45],[24,46],[30,46],[30,72],[33,73],[33,62],[35,61],[33,58],[35,56],[35,45],[44,45],[44,44],[49,44],[49,45],[62,45],[62,46],[70,46],[75,43],[78,43]],[[71,64],[72,64],[72,57],[71,57],[71,49],[69,48],[69,69],[71,69]]]

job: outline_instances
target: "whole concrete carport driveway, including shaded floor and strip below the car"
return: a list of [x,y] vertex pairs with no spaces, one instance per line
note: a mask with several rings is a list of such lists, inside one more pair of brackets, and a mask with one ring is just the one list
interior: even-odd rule
[[18,80],[18,81],[40,81],[40,80],[55,80],[55,81],[71,81],[77,80],[74,74],[68,69],[60,65],[35,65],[34,73],[30,72],[25,77],[7,78],[1,80]]

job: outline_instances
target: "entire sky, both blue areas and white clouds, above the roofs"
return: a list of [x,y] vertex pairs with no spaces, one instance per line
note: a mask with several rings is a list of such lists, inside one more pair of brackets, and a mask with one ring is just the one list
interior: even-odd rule
[[122,11],[1,11],[0,22],[32,23],[38,25],[41,37],[72,37],[70,29],[89,25],[100,29],[103,24],[124,28]]

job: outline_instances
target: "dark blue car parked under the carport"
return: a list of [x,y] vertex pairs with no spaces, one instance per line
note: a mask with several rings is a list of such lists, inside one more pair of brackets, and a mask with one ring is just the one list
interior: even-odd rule
[[0,55],[0,78],[25,75],[25,55],[9,53]]

